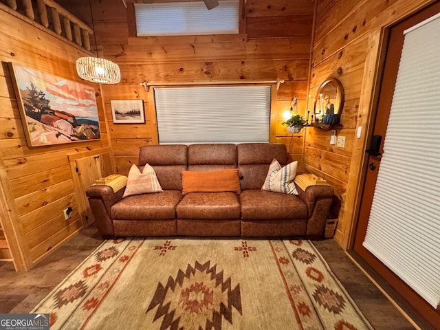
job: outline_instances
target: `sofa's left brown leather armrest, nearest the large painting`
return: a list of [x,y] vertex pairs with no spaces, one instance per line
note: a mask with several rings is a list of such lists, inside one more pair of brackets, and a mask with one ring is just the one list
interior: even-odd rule
[[91,212],[93,212],[96,225],[102,238],[114,237],[113,220],[111,219],[111,206],[122,199],[125,188],[113,192],[109,186],[90,186],[85,191],[89,197]]

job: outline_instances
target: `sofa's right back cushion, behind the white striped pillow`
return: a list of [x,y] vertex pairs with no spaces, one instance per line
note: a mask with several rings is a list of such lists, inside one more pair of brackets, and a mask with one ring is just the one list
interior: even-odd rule
[[288,162],[287,149],[282,143],[242,143],[237,146],[238,167],[241,170],[241,190],[261,189],[273,159],[281,166]]

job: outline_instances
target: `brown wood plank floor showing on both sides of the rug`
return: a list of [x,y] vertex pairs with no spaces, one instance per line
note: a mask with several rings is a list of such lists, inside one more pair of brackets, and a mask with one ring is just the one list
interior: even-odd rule
[[[28,313],[101,242],[92,226],[81,230],[30,272],[15,272],[12,263],[0,263],[0,314]],[[417,329],[349,259],[336,241],[314,241],[314,245],[374,329]]]

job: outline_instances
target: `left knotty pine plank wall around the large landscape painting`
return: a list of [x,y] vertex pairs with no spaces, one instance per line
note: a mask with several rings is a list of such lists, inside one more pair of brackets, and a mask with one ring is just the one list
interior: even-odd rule
[[[94,150],[99,153],[109,148],[109,140],[99,85],[91,84],[98,95],[101,140],[27,146],[6,63],[83,82],[76,74],[75,61],[88,54],[2,10],[0,21],[1,224],[16,269],[28,270],[82,227],[68,156]],[[63,210],[69,206],[74,212],[66,221]],[[0,249],[7,255],[1,234]]]

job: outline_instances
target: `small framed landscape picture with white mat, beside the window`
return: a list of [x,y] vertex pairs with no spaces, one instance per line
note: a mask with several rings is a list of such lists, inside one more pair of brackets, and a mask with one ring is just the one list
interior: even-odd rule
[[115,124],[144,123],[144,100],[110,100]]

